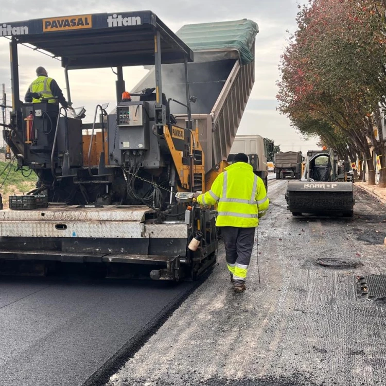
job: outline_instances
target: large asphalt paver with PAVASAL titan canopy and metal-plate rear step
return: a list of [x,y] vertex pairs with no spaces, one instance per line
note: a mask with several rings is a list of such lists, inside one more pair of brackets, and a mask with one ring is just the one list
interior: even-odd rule
[[[39,182],[1,213],[0,270],[82,262],[110,276],[178,280],[214,265],[215,212],[189,202],[189,192],[205,191],[205,157],[190,117],[192,50],[150,11],[6,25],[13,111],[5,139],[19,168],[31,168]],[[68,97],[68,71],[116,67],[115,111],[99,104],[94,123],[83,124],[51,100],[21,102],[17,46],[25,43],[61,58]],[[184,100],[166,98],[161,63],[184,68]],[[136,65],[153,65],[155,76],[134,100],[124,94],[122,67]],[[170,103],[185,109],[184,126]],[[196,251],[187,248],[194,237]]]

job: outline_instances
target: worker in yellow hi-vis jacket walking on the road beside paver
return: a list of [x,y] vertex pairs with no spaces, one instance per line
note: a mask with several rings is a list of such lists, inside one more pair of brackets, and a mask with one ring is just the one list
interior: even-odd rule
[[221,227],[226,263],[235,292],[245,291],[255,229],[269,206],[264,182],[256,176],[248,161],[247,155],[236,154],[234,163],[219,174],[209,191],[195,194],[200,205],[218,203],[216,226]]

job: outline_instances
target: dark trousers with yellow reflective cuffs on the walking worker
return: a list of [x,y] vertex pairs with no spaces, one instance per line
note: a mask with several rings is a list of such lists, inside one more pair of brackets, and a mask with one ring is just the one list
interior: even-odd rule
[[251,260],[256,228],[221,226],[225,244],[225,259],[234,284],[245,282]]

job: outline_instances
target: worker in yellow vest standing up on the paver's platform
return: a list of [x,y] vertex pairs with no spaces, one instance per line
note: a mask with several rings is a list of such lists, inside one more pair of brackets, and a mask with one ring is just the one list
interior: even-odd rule
[[37,94],[41,94],[42,98],[51,98],[48,99],[48,103],[59,102],[65,109],[68,109],[69,106],[63,96],[62,90],[60,90],[55,79],[48,77],[46,69],[44,67],[38,67],[36,69],[36,75],[38,77],[28,87],[24,100],[28,103],[39,103],[40,98],[37,97]]

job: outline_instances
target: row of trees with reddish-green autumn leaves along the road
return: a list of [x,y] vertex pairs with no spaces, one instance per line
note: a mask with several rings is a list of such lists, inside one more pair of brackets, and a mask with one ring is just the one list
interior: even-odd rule
[[280,60],[278,110],[386,187],[386,0],[310,0]]

